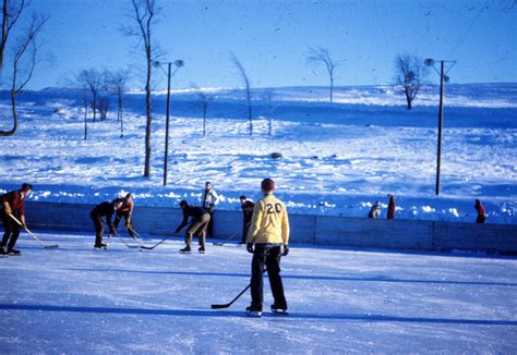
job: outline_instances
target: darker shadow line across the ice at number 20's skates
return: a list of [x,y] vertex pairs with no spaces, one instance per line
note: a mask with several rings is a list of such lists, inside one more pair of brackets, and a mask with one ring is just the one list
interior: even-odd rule
[[[62,311],[84,314],[111,314],[111,315],[143,315],[143,316],[172,316],[172,317],[208,317],[208,318],[242,318],[243,311],[211,310],[211,309],[144,309],[144,308],[113,308],[113,307],[77,307],[77,306],[51,306],[51,305],[22,305],[0,304],[1,310],[28,310],[28,311]],[[350,314],[324,314],[324,313],[291,313],[289,316],[276,316],[264,314],[270,319],[296,319],[298,320],[339,320],[352,322],[381,322],[381,323],[444,323],[444,325],[477,325],[477,326],[512,326],[517,327],[515,320],[497,319],[456,319],[456,318],[428,318],[428,317],[401,317],[382,315],[350,315]]]

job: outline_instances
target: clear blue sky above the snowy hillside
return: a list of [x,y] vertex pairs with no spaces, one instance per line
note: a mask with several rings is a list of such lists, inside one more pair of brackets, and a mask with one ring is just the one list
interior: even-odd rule
[[[453,83],[517,82],[513,0],[497,1],[176,1],[161,7],[155,39],[164,60],[183,59],[175,87],[241,86],[236,53],[252,86],[326,85],[323,68],[305,62],[310,46],[327,48],[336,85],[389,84],[398,53],[454,59]],[[31,9],[50,15],[40,38],[51,58],[31,88],[65,86],[82,69],[131,68],[142,88],[143,50],[120,27],[133,25],[130,0],[37,0]],[[156,88],[166,78],[155,73]],[[437,76],[430,76],[437,82]]]

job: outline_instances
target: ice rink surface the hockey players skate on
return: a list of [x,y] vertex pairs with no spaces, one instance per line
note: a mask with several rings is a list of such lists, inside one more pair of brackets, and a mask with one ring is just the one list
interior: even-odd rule
[[[182,255],[93,235],[22,234],[0,258],[2,354],[515,354],[517,260],[297,246],[282,259],[290,316],[248,318],[242,246]],[[158,240],[145,240],[147,245]],[[265,280],[265,305],[272,301]]]

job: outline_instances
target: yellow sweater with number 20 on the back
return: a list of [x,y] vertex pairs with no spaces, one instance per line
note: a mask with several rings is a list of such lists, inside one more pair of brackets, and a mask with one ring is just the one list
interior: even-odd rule
[[253,208],[248,243],[289,243],[289,219],[286,205],[273,195],[265,195]]

